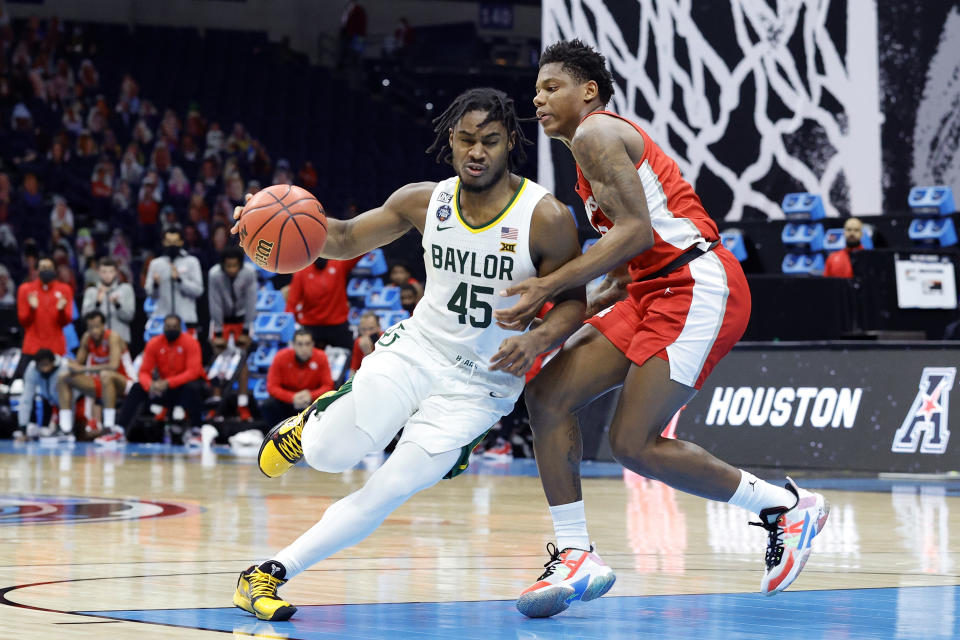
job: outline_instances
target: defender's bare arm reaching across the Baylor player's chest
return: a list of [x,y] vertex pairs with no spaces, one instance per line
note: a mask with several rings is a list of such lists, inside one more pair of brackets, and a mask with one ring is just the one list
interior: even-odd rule
[[571,150],[594,198],[614,226],[590,250],[545,277],[510,288],[522,294],[510,309],[497,311],[498,321],[529,322],[545,300],[558,291],[590,282],[653,246],[653,227],[643,183],[620,133],[609,118],[588,118],[571,141]]

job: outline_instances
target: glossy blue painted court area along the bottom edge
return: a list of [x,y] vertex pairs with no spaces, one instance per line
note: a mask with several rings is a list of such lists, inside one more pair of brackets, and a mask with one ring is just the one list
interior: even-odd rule
[[760,594],[604,597],[524,618],[513,601],[302,606],[289,622],[236,608],[86,615],[275,638],[361,640],[947,640],[960,637],[960,589],[903,587]]

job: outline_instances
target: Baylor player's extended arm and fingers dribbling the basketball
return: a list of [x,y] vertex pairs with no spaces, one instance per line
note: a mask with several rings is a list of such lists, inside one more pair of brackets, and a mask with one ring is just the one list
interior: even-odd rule
[[[436,186],[435,182],[415,182],[394,191],[379,207],[364,211],[350,220],[327,218],[327,240],[320,256],[334,260],[349,260],[390,244],[415,227],[423,233],[427,205]],[[246,200],[252,196],[248,193]],[[239,220],[242,207],[233,211]],[[239,222],[230,233],[239,231]]]

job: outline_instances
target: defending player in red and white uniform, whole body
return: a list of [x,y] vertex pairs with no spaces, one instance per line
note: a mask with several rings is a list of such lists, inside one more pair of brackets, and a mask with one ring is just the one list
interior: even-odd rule
[[507,289],[503,295],[522,297],[495,314],[505,328],[525,326],[555,292],[611,274],[588,300],[586,324],[526,390],[557,535],[547,570],[517,601],[534,617],[597,597],[598,578],[612,583],[587,534],[573,412],[614,387],[623,393],[610,444],[621,464],[760,517],[769,532],[764,593],[796,578],[828,513],[822,496],[789,478],[774,486],[695,444],[660,436],[743,335],[750,290],[677,164],[635,123],[604,110],[613,95],[605,62],[578,40],[548,47],[533,100],[544,133],[573,153],[577,192],[602,237],[553,273]]

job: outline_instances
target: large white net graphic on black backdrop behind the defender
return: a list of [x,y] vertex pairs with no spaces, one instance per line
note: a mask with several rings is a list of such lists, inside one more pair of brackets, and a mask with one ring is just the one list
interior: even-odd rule
[[[843,33],[831,34],[830,0],[692,2],[544,0],[543,44],[580,38],[606,56],[610,108],[644,127],[701,196],[701,180],[729,190],[709,199],[714,217],[781,218],[792,190],[823,196],[828,215],[880,213],[875,3],[849,0],[833,21]],[[624,23],[637,10],[639,29]],[[703,24],[711,12],[732,31]],[[552,186],[542,135],[539,178]]]

